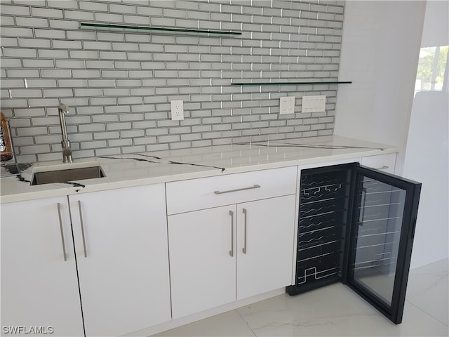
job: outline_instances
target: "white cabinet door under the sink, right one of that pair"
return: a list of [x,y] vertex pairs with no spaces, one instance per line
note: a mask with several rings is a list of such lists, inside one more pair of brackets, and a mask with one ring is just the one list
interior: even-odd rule
[[86,335],[119,336],[168,321],[163,184],[69,200]]

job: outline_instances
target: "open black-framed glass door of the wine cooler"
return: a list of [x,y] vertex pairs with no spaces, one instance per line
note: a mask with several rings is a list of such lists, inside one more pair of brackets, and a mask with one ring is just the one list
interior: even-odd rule
[[399,324],[421,184],[363,166],[355,173],[345,283]]

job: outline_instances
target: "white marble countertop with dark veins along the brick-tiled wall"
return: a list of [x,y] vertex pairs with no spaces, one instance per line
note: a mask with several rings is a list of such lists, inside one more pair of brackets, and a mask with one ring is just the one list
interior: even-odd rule
[[[23,171],[0,171],[0,203],[111,190],[175,180],[220,176],[285,166],[319,164],[398,152],[397,147],[339,136],[297,138],[257,143],[217,145],[140,154],[74,159],[72,164],[46,161],[22,165]],[[76,183],[30,185],[32,173],[100,164],[105,178]],[[29,167],[28,167],[29,166]]]

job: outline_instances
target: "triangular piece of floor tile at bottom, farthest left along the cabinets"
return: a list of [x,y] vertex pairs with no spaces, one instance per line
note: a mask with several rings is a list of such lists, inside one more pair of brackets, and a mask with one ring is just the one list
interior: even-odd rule
[[235,311],[224,312],[201,321],[180,326],[155,336],[236,336],[254,337],[255,334]]

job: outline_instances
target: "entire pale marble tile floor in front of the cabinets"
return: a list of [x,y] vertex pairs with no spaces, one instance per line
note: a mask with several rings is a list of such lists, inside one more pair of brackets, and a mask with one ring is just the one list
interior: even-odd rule
[[332,284],[222,313],[156,336],[449,336],[449,259],[410,270],[402,324]]

